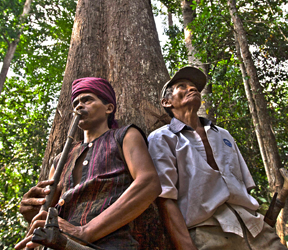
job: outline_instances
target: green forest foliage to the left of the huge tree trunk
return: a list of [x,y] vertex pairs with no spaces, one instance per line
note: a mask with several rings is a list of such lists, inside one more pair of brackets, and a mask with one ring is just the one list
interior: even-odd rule
[[[0,3],[0,57],[18,35],[25,1]],[[38,180],[67,60],[75,1],[39,0],[20,36],[0,96],[0,249],[13,249],[27,224],[19,203]]]

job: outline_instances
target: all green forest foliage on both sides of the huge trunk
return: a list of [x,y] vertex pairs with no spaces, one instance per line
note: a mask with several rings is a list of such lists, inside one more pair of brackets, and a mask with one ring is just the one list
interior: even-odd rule
[[[161,2],[161,3],[160,3]],[[0,3],[0,58],[17,36],[23,0]],[[168,27],[162,47],[170,75],[188,64],[179,0],[154,0],[155,15],[168,11],[179,20]],[[210,65],[216,124],[230,131],[249,166],[267,208],[270,201],[254,126],[236,57],[227,1],[192,1],[196,18],[189,25],[197,56]],[[160,6],[160,7],[159,7]],[[287,1],[237,1],[253,60],[263,86],[283,164],[288,161]],[[35,0],[20,36],[0,96],[0,248],[13,249],[27,224],[18,212],[21,197],[37,182],[65,70],[76,1]],[[166,19],[165,19],[166,20]]]

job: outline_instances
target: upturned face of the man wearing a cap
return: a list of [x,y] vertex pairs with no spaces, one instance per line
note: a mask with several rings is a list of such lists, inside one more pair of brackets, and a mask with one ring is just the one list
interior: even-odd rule
[[198,110],[201,105],[201,94],[195,84],[186,79],[180,79],[172,85],[171,105],[172,108],[182,109],[193,107]]

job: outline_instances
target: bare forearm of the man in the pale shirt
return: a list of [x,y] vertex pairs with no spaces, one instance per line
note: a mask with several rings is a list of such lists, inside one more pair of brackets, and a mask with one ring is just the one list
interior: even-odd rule
[[177,250],[197,250],[188,232],[186,223],[175,200],[158,198],[161,217]]

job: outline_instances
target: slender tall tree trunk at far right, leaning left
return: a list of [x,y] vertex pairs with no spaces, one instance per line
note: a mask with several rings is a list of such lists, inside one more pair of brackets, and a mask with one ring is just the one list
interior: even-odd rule
[[[253,123],[256,130],[256,136],[259,143],[259,148],[261,152],[261,156],[264,162],[264,167],[266,170],[266,174],[268,177],[269,185],[272,192],[279,191],[283,185],[283,178],[279,172],[279,169],[282,167],[280,155],[277,148],[277,142],[275,135],[272,131],[272,126],[270,122],[270,117],[267,110],[267,102],[265,100],[262,86],[260,85],[257,70],[252,60],[251,53],[249,51],[249,45],[246,38],[246,33],[243,28],[242,20],[239,18],[236,9],[235,0],[228,1],[230,15],[232,17],[234,29],[236,32],[236,39],[239,43],[239,47],[241,50],[241,58],[243,59],[243,63],[245,68],[243,71],[247,72],[247,76],[249,78],[249,85],[251,88],[252,95],[249,90],[246,90],[248,93],[248,101],[250,110],[252,111]],[[244,73],[245,74],[245,73]],[[243,75],[243,78],[245,75]],[[244,82],[245,83],[245,82]],[[248,88],[245,86],[245,89]],[[248,91],[248,92],[247,92]],[[251,100],[253,98],[253,101]],[[254,108],[255,107],[255,108]],[[284,214],[287,214],[286,208],[284,210]],[[285,224],[287,218],[280,216],[278,219],[277,232],[281,238],[283,244],[285,241],[283,239],[284,235],[287,234],[285,232]]]

